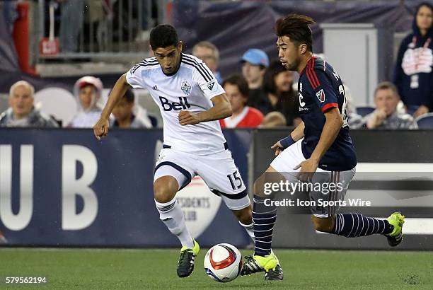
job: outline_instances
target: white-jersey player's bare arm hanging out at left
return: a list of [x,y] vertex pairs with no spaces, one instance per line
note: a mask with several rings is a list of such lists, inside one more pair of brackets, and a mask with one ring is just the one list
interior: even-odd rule
[[100,114],[100,119],[96,122],[95,126],[93,126],[93,134],[95,134],[96,139],[100,140],[100,137],[104,137],[108,134],[108,119],[110,118],[112,109],[120,98],[125,95],[129,87],[129,83],[127,83],[126,80],[126,74],[123,74],[116,81],[114,88],[112,88],[110,95],[108,95],[108,101],[105,104],[103,112]]

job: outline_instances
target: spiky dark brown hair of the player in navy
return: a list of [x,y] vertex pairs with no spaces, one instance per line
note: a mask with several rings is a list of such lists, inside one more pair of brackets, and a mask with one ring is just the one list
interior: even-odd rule
[[287,36],[296,46],[303,43],[313,52],[313,36],[308,25],[315,23],[313,18],[304,15],[291,14],[286,18],[279,18],[275,23],[275,34],[278,37]]

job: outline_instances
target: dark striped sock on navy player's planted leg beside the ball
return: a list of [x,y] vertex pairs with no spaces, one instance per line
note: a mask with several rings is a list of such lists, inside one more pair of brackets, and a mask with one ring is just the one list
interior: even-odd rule
[[254,196],[253,224],[255,248],[254,255],[265,256],[271,253],[272,231],[277,220],[277,207],[266,206],[265,198]]

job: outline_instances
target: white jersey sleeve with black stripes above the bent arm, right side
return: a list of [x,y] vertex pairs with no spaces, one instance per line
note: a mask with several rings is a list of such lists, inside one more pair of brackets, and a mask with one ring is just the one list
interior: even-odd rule
[[212,71],[204,64],[200,62],[192,71],[192,79],[200,87],[203,94],[212,99],[214,96],[226,93],[224,88],[218,83]]

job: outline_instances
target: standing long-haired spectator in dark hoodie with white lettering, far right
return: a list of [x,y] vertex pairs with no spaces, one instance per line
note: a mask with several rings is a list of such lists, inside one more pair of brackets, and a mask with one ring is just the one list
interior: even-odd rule
[[413,31],[398,50],[394,83],[406,107],[417,108],[415,117],[433,110],[432,21],[432,4],[420,4],[412,23]]

